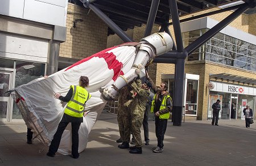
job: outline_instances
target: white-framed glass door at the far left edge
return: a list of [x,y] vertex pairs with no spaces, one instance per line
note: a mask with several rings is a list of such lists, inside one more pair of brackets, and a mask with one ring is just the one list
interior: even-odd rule
[[6,92],[12,88],[13,73],[0,70],[0,121],[9,121],[11,97]]

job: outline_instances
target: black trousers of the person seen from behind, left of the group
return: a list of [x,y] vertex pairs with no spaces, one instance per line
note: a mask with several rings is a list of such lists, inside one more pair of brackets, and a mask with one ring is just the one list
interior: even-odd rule
[[[51,145],[49,146],[49,153],[55,154],[60,146],[60,139],[65,130],[68,126],[69,122],[60,122],[57,128],[55,135],[53,136]],[[78,147],[79,147],[79,127],[81,123],[74,123],[71,122],[72,126],[72,155],[74,157],[79,157]]]

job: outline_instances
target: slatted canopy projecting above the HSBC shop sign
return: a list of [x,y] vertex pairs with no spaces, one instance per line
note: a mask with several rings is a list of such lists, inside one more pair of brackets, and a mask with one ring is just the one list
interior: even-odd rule
[[210,75],[210,79],[222,80],[222,81],[231,81],[248,85],[256,85],[256,79],[236,76],[234,74],[220,73]]

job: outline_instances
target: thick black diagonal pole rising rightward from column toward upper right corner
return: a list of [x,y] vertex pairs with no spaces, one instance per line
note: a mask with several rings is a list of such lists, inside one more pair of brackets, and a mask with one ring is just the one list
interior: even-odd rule
[[188,45],[188,47],[185,48],[187,50],[188,55],[191,55],[197,48],[199,48],[201,45],[203,45],[207,40],[212,38],[214,35],[216,35],[218,32],[220,32],[224,27],[228,26],[230,22],[232,22],[234,19],[236,19],[238,16],[240,16],[244,11],[249,9],[249,5],[247,3],[242,4],[242,6],[234,11],[232,14],[227,16],[225,19],[223,19],[221,22],[216,24],[216,26],[212,27],[209,31],[205,32],[202,36],[200,36],[198,39],[196,39],[194,42]]

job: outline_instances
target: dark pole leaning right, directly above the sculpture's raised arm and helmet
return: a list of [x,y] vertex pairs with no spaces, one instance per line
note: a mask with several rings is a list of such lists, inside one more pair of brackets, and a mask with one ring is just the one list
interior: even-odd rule
[[155,16],[158,11],[159,2],[160,0],[152,0],[151,2],[150,13],[148,14],[147,18],[147,26],[144,32],[144,37],[151,35],[152,27],[155,22]]

